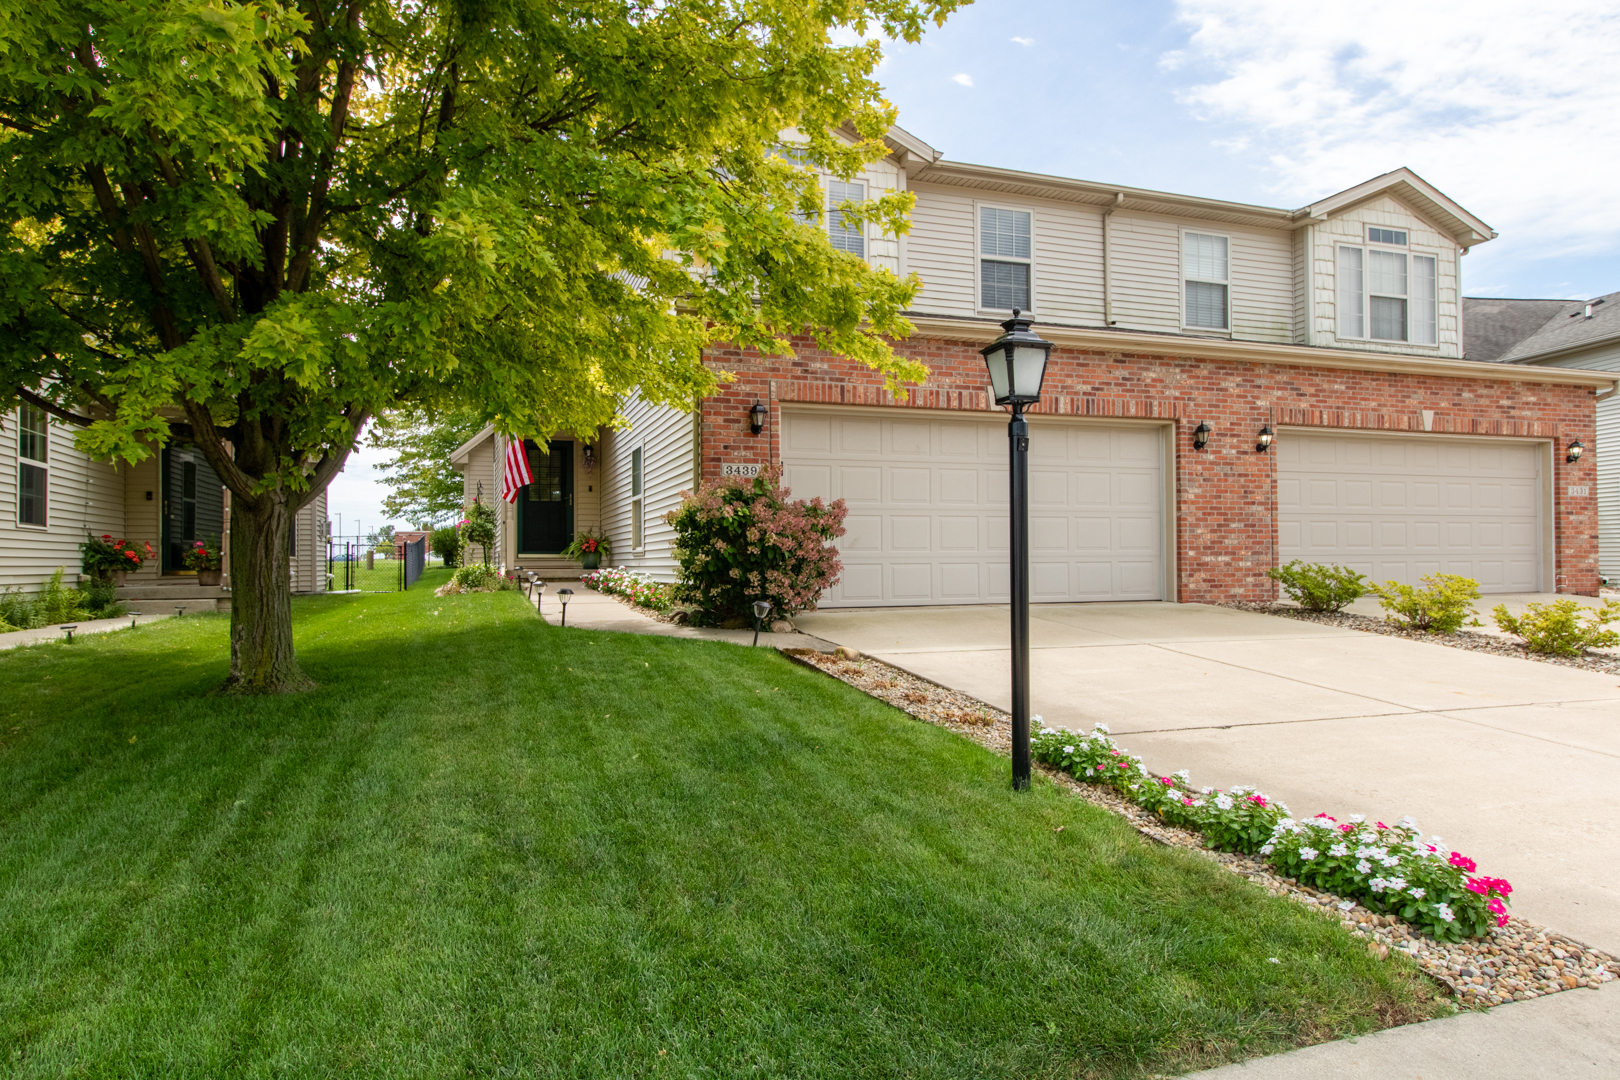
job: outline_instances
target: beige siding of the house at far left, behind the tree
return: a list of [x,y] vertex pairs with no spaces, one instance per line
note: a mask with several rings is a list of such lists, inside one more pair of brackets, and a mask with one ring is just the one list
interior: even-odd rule
[[[73,431],[47,427],[45,528],[16,520],[18,411],[0,415],[0,588],[34,591],[57,567],[63,580],[79,576],[79,542],[86,533],[125,536],[123,478],[105,461],[92,461],[73,445]],[[156,536],[130,536],[133,541]]]

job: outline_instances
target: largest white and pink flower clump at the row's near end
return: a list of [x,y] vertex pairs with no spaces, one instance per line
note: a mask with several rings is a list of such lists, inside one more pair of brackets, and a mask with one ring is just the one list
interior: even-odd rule
[[1474,860],[1447,852],[1440,837],[1424,840],[1411,818],[1393,826],[1361,814],[1285,819],[1260,850],[1291,878],[1398,915],[1437,941],[1477,938],[1508,921],[1513,886],[1473,876]]

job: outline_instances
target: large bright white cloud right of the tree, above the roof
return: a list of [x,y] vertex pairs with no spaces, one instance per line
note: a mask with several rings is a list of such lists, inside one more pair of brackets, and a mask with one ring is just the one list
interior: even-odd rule
[[[1162,68],[1301,206],[1400,165],[1518,257],[1620,243],[1620,11],[1570,0],[1179,0]],[[1249,146],[1252,142],[1252,147]],[[1492,254],[1497,254],[1492,251]],[[1507,251],[1502,251],[1507,254]],[[1620,287],[1615,282],[1612,287]]]

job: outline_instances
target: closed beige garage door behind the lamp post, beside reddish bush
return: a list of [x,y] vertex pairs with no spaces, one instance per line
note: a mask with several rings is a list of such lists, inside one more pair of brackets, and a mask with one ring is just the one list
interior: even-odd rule
[[[1006,418],[787,410],[795,499],[844,499],[842,580],[823,606],[1008,599]],[[1165,597],[1153,426],[1030,423],[1030,599]]]

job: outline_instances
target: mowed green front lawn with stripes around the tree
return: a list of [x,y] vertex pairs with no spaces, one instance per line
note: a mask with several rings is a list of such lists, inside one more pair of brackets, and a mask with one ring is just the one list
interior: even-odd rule
[[6,1075],[1124,1077],[1445,1009],[774,653],[444,575],[298,601],[296,698],[211,696],[224,617],[0,654]]

